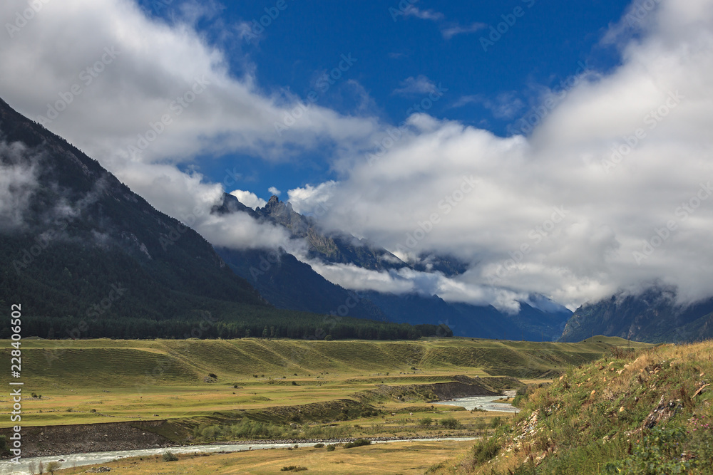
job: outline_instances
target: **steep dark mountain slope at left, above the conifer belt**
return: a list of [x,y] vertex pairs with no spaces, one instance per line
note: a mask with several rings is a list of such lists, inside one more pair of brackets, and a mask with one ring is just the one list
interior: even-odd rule
[[2,172],[14,177],[0,188],[0,301],[53,318],[266,305],[202,236],[1,100],[0,147]]

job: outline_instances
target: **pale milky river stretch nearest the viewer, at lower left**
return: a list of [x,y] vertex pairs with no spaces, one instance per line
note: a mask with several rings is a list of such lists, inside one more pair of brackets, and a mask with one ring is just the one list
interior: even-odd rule
[[[384,444],[390,442],[435,442],[443,440],[475,440],[477,437],[440,437],[436,439],[409,439],[409,440],[384,440],[384,441],[374,441],[374,444]],[[329,443],[329,442],[327,442]],[[107,462],[114,461],[117,459],[122,459],[125,457],[136,457],[136,456],[153,456],[163,454],[165,451],[170,451],[173,454],[193,454],[201,453],[207,454],[211,452],[237,452],[237,451],[247,451],[247,450],[260,450],[260,449],[279,449],[286,447],[313,447],[314,442],[309,443],[298,443],[298,444],[228,444],[228,445],[193,445],[188,447],[170,447],[163,449],[140,449],[140,450],[119,450],[119,451],[107,451],[107,452],[91,452],[88,454],[72,454],[72,455],[56,455],[56,456],[43,456],[43,457],[33,457],[31,459],[20,459],[19,464],[13,464],[9,461],[0,462],[0,475],[18,474],[18,475],[32,475],[37,473],[36,469],[41,461],[46,465],[50,461],[61,461],[61,469],[69,469],[75,466],[85,466],[94,464],[106,464]],[[35,471],[31,471],[34,469]]]

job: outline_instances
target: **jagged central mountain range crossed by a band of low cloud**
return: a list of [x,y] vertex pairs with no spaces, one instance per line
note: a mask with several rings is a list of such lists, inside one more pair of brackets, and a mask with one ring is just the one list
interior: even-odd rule
[[[283,226],[293,238],[304,239],[310,259],[326,263],[344,263],[370,270],[409,267],[421,272],[441,272],[456,276],[467,270],[464,263],[451,256],[422,254],[419,262],[408,264],[386,249],[347,234],[325,232],[319,222],[302,216],[289,202],[275,196],[265,207],[255,210],[225,194],[213,208],[217,214],[245,212],[260,221]],[[493,306],[448,303],[438,296],[419,293],[394,295],[367,291],[354,293],[330,283],[309,265],[282,249],[235,250],[216,248],[235,273],[254,285],[267,301],[278,308],[337,313],[358,318],[376,318],[411,325],[435,325],[450,328],[454,335],[510,340],[556,340],[572,312],[543,296],[530,296],[520,303],[515,315]],[[350,305],[345,305],[348,302]],[[447,330],[450,333],[451,330]]]

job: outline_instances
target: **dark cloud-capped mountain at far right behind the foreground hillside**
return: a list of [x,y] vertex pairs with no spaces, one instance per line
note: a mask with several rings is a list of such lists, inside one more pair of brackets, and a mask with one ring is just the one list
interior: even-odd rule
[[618,336],[647,343],[713,338],[713,298],[676,303],[674,288],[652,286],[639,294],[619,293],[578,308],[561,340],[592,335]]

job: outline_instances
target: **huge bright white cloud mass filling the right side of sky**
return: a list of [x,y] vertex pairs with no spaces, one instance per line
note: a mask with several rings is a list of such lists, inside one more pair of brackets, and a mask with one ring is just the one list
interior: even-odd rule
[[[712,7],[662,0],[617,36],[622,64],[582,73],[528,137],[419,115],[427,127],[332,189],[327,221],[470,262],[461,295],[534,291],[575,308],[660,281],[684,301],[710,296]],[[464,177],[478,180],[471,192],[458,191]]]

